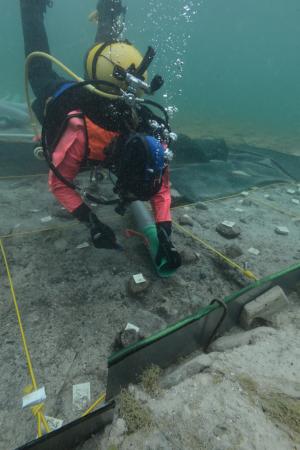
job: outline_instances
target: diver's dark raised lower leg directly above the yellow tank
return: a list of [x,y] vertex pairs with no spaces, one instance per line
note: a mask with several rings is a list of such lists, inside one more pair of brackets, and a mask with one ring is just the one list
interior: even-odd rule
[[126,11],[122,0],[98,1],[96,42],[107,42],[119,37],[124,29]]

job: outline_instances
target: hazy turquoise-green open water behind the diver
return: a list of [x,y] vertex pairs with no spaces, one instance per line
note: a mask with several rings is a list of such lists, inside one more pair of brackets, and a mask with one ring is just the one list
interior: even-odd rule
[[[78,73],[94,27],[95,0],[54,0],[47,15],[52,53]],[[153,73],[161,98],[178,108],[174,124],[191,135],[218,135],[300,149],[299,0],[124,0],[126,37],[158,50]],[[0,16],[0,97],[23,95],[18,2]]]

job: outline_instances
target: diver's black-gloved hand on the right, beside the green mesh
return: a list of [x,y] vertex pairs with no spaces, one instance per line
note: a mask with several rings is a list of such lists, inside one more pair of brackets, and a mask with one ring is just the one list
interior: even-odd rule
[[181,256],[171,241],[172,223],[160,222],[156,225],[159,241],[155,262],[159,266],[163,259],[167,261],[166,269],[174,270],[181,266]]

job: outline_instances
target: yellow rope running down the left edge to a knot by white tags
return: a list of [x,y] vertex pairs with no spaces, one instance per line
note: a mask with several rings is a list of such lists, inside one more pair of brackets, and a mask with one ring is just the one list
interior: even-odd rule
[[[21,333],[21,340],[22,340],[23,349],[24,349],[24,353],[25,353],[25,357],[26,357],[26,361],[27,361],[27,368],[28,368],[29,376],[30,376],[31,382],[32,382],[31,390],[36,391],[37,390],[37,382],[36,382],[36,378],[35,378],[35,374],[34,374],[34,370],[33,370],[33,366],[32,366],[31,356],[29,353],[26,336],[25,336],[25,332],[24,332],[24,328],[23,328],[23,324],[22,324],[21,314],[20,314],[20,310],[19,310],[19,306],[18,306],[18,302],[17,302],[17,298],[16,298],[14,286],[13,286],[12,277],[11,277],[11,273],[10,273],[8,262],[7,262],[6,252],[5,252],[2,240],[0,240],[0,249],[1,249],[1,253],[2,253],[3,262],[5,265],[7,278],[8,278],[9,286],[10,286],[10,292],[11,292],[11,296],[12,296],[12,300],[13,300],[13,304],[15,307],[16,316],[17,316],[17,320],[18,320],[18,325],[19,325],[19,329],[20,329],[20,333]],[[31,408],[31,410],[32,410],[34,416],[37,418],[38,436],[39,437],[42,436],[41,422],[43,423],[47,433],[49,433],[50,428],[49,428],[49,425],[48,425],[46,418],[44,416],[44,413],[43,413],[43,404],[36,405],[33,408]]]

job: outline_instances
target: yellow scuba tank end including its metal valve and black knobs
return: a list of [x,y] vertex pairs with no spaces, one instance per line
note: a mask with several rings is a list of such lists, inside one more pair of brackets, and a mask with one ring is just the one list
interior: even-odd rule
[[88,80],[103,81],[101,89],[107,93],[117,89],[136,97],[144,92],[152,94],[163,85],[159,75],[150,86],[147,84],[147,69],[154,56],[152,47],[142,56],[128,41],[96,44],[87,53],[85,76]]

